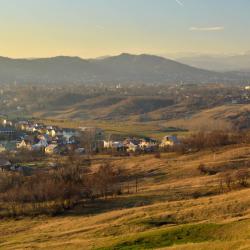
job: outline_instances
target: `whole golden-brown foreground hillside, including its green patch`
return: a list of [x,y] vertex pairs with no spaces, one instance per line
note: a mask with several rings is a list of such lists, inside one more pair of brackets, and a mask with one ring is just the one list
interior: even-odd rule
[[143,176],[138,193],[131,182],[130,194],[125,187],[122,196],[58,217],[1,220],[0,249],[250,249],[250,189],[221,193],[218,175],[197,169],[203,162],[224,168],[249,156],[248,146],[230,146],[216,155],[109,158]]

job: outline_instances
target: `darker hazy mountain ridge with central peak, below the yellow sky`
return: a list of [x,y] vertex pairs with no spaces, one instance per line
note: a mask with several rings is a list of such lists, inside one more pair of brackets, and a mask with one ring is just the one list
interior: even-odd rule
[[154,55],[121,54],[98,59],[58,56],[0,57],[0,83],[209,83],[237,75],[199,69]]

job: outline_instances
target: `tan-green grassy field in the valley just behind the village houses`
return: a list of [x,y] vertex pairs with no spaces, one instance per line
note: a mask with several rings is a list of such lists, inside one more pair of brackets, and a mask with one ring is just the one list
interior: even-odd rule
[[[186,135],[187,133],[207,130],[231,130],[234,126],[236,117],[250,109],[249,104],[230,104],[222,105],[211,109],[204,109],[195,114],[184,115],[182,118],[163,119],[158,117],[157,114],[162,114],[163,110],[152,112],[152,116],[156,115],[155,119],[151,121],[138,121],[133,116],[126,121],[115,119],[96,120],[91,119],[67,119],[62,117],[58,119],[55,116],[51,118],[37,119],[49,125],[58,125],[60,127],[78,128],[81,126],[91,126],[102,128],[107,134],[130,135],[138,137],[153,137],[162,139],[166,134]],[[166,110],[166,113],[170,110]],[[171,111],[172,112],[172,111]],[[34,114],[35,117],[41,117],[40,114]],[[233,118],[234,117],[234,118]],[[238,117],[239,118],[239,117]],[[163,120],[162,120],[163,119]],[[177,128],[177,131],[171,131],[169,128]],[[184,130],[184,131],[182,131]],[[187,131],[187,132],[185,132]]]

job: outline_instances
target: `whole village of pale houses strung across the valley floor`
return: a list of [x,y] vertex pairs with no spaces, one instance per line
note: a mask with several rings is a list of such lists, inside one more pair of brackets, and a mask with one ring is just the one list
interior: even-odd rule
[[[153,153],[179,144],[175,135],[166,135],[161,141],[152,138],[122,137],[106,134],[100,128],[59,128],[33,121],[3,119],[0,126],[0,154],[16,155],[22,152],[53,155],[88,155],[98,153]],[[9,167],[6,161],[0,167]]]

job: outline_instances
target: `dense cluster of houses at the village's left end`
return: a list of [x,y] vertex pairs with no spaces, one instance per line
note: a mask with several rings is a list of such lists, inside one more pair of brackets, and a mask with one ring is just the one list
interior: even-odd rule
[[46,154],[63,153],[80,148],[81,130],[58,128],[31,121],[7,121],[0,127],[0,152],[9,150],[44,151]]

